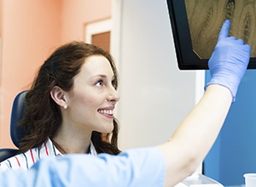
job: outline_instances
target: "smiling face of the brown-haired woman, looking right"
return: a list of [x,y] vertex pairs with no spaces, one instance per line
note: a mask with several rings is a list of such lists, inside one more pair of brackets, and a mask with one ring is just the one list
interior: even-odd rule
[[79,129],[110,133],[113,130],[113,109],[119,95],[113,88],[111,65],[103,56],[85,59],[74,87],[68,92],[68,122]]

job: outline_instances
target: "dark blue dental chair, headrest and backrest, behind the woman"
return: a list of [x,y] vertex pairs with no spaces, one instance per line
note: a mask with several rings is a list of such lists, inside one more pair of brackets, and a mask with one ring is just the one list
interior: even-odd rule
[[17,94],[14,103],[12,106],[11,111],[11,118],[10,118],[10,136],[17,147],[16,149],[12,148],[3,148],[0,149],[0,162],[4,161],[5,159],[15,156],[19,153],[19,144],[20,139],[24,136],[24,129],[22,127],[18,127],[18,122],[20,122],[20,119],[23,116],[23,112],[25,109],[25,96],[27,91],[22,91],[20,94]]

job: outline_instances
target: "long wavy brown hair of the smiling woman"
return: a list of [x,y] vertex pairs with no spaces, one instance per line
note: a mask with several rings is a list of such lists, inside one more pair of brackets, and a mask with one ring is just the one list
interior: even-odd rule
[[[102,48],[84,42],[69,42],[55,49],[40,67],[38,76],[26,93],[25,114],[20,121],[20,126],[25,129],[25,136],[20,143],[21,152],[38,147],[55,136],[61,126],[62,116],[60,106],[50,97],[50,91],[55,86],[65,91],[71,90],[74,77],[79,74],[85,59],[92,55],[102,55],[108,59],[115,77],[113,86],[115,89],[118,88],[118,72],[113,58]],[[118,132],[116,118],[113,120],[111,133],[92,132],[91,141],[96,151],[119,154]]]

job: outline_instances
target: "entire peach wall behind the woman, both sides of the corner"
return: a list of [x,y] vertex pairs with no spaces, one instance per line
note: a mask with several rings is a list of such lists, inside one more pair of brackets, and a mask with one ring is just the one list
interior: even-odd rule
[[32,82],[38,66],[54,48],[63,42],[84,40],[85,24],[109,18],[111,0],[1,2],[3,63],[0,71],[0,148],[3,148],[14,147],[9,138],[9,120],[15,95]]

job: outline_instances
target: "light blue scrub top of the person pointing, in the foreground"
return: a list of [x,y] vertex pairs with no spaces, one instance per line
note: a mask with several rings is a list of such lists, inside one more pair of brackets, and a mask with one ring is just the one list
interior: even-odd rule
[[0,186],[164,186],[166,163],[154,147],[127,150],[118,156],[86,154],[44,158],[27,171],[0,173]]

